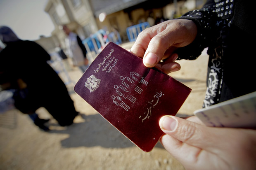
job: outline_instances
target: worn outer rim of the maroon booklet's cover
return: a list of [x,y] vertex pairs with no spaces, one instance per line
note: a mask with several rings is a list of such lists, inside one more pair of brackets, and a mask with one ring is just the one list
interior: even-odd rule
[[[109,44],[111,44],[111,43],[113,43],[113,44],[115,44],[114,42],[109,42],[103,49],[102,49],[102,51],[109,45]],[[118,44],[116,44],[116,45],[118,45]],[[127,49],[124,49],[123,47],[121,47],[120,45],[118,45],[120,48],[122,48],[123,50],[126,50],[128,53],[130,53],[130,54],[132,54],[133,56],[135,56],[135,57],[137,57],[137,58],[140,58],[140,57],[138,57],[138,56],[136,56],[135,54],[133,54],[133,53],[131,53],[130,51],[128,51]],[[97,54],[97,56],[99,56],[101,53],[102,53],[102,51],[99,53],[99,54]],[[96,58],[97,58],[97,56],[96,56]],[[142,58],[140,58],[142,61],[143,61],[143,59]],[[92,61],[92,63],[93,62],[95,62],[95,60],[94,61]],[[89,65],[89,67],[88,68],[90,68],[90,65]],[[87,69],[88,69],[87,68]],[[156,68],[156,67],[154,67],[154,68],[150,68],[150,69],[154,69],[154,70],[156,70],[156,71],[158,71],[158,72],[160,72],[161,74],[164,74],[164,75],[167,75],[167,76],[169,76],[169,77],[171,77],[170,75],[168,75],[168,74],[166,74],[165,72],[163,72],[162,70],[160,70],[159,68]],[[85,70],[85,72],[86,72],[86,70]],[[84,73],[83,73],[84,74]],[[80,77],[80,79],[83,77],[83,75]],[[177,79],[175,79],[175,78],[173,78],[173,77],[171,77],[173,80],[175,80],[175,81],[177,81],[177,82],[179,82],[179,83],[181,83],[180,81],[178,81]],[[79,82],[79,80],[80,79],[78,79],[78,81],[77,82]],[[76,82],[76,84],[74,85],[74,87],[73,87],[73,90],[75,91],[75,87],[76,87],[76,85],[77,85],[77,82]],[[181,83],[181,84],[183,84],[183,83]],[[186,86],[185,84],[183,84],[184,86]],[[191,93],[191,91],[192,91],[192,89],[190,88],[190,87],[188,87],[188,86],[186,86],[189,90],[190,90],[190,93]],[[76,91],[75,91],[75,93],[76,93]],[[190,93],[187,95],[187,97],[190,95]],[[77,95],[79,95],[78,93],[76,93]],[[80,96],[80,95],[79,95]],[[81,97],[81,96],[80,96]],[[81,97],[82,98],[82,97]],[[185,99],[185,100],[187,100],[187,98]],[[185,102],[185,100],[184,100],[184,102]],[[84,100],[85,101],[85,100]],[[87,101],[85,101],[85,102],[87,102]],[[183,104],[184,104],[184,102],[182,103],[182,105],[180,106],[180,108],[183,106]],[[88,103],[88,102],[87,102]],[[89,104],[89,103],[88,103]],[[90,105],[90,104],[89,104]],[[92,105],[90,105],[91,107],[92,107]],[[180,110],[180,108],[179,108],[179,110]],[[94,108],[95,109],[95,108]],[[95,109],[96,111],[97,111],[97,109]],[[178,111],[179,111],[178,110]],[[178,113],[178,111],[177,111],[177,113]],[[97,111],[98,112],[98,111]],[[176,113],[176,114],[177,114]],[[98,114],[100,114],[99,112],[98,112]],[[175,114],[175,115],[176,115]],[[174,115],[174,116],[175,116]],[[102,116],[102,114],[100,114],[100,116]],[[102,116],[103,118],[104,118],[104,116]],[[106,121],[108,121],[106,118],[104,118]],[[160,120],[160,118],[159,118],[159,120]],[[158,122],[159,122],[159,120],[158,120]],[[109,122],[109,121],[108,121]],[[114,128],[116,128],[116,126],[114,126],[111,122],[109,122]],[[124,135],[118,128],[116,128],[122,135]],[[159,142],[159,140],[160,140],[160,138],[162,137],[164,135],[164,132],[162,132],[162,134],[160,135],[160,137],[159,137],[159,139],[157,139],[156,141],[157,142]],[[124,135],[128,140],[130,140],[126,135]],[[136,147],[138,147],[140,150],[142,150],[142,151],[145,151],[145,152],[150,152],[150,151],[152,151],[153,149],[154,149],[154,147],[156,146],[156,144],[157,144],[157,142],[154,144],[154,146],[150,149],[150,150],[143,150],[142,148],[140,148],[137,144],[135,144],[132,140],[130,140]]]

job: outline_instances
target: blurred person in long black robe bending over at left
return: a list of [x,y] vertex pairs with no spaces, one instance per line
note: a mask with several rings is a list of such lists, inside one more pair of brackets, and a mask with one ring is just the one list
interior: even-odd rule
[[36,42],[20,40],[7,26],[0,27],[0,40],[6,45],[0,52],[0,85],[15,89],[14,105],[28,114],[43,130],[48,119],[36,114],[45,107],[60,126],[69,126],[78,115],[65,84],[47,61],[50,55]]

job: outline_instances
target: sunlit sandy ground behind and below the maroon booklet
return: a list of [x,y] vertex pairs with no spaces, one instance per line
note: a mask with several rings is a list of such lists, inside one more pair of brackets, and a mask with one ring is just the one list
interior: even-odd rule
[[[130,43],[123,44],[126,49]],[[178,115],[192,115],[200,109],[206,91],[208,56],[195,61],[178,61],[182,69],[170,75],[192,88]],[[59,74],[69,82],[64,72]],[[77,82],[82,73],[78,68],[68,75]],[[67,84],[75,107],[81,115],[69,127],[60,127],[50,120],[50,131],[39,130],[29,117],[13,109],[0,114],[0,170],[183,170],[160,143],[146,153],[137,148],[109,124]],[[54,95],[54,94],[53,94]],[[50,96],[49,96],[50,97]],[[51,118],[38,109],[42,118]]]

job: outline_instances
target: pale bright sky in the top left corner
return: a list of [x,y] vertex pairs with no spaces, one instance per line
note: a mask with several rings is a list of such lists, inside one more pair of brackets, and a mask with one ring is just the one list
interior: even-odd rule
[[44,11],[48,0],[0,0],[0,26],[9,26],[22,40],[49,37],[54,30]]

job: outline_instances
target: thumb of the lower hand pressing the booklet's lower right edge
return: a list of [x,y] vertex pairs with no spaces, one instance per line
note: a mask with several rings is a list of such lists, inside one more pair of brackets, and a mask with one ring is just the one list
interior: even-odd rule
[[256,130],[207,127],[175,116],[161,117],[159,126],[167,135],[215,155],[230,154],[238,160],[237,152],[248,160],[252,154],[255,157],[249,148],[256,144]]

